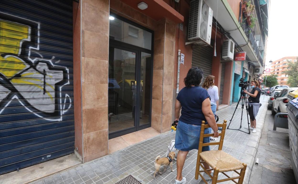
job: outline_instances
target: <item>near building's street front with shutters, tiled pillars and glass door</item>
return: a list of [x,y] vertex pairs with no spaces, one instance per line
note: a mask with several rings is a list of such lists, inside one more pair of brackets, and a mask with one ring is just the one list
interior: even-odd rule
[[[244,1],[204,1],[211,35],[192,43],[200,1],[144,2],[0,2],[0,174],[70,153],[88,162],[169,131],[191,67],[215,76],[219,108],[238,101],[240,78],[258,77],[268,1],[252,1],[254,26]],[[245,60],[223,59],[227,40]]]

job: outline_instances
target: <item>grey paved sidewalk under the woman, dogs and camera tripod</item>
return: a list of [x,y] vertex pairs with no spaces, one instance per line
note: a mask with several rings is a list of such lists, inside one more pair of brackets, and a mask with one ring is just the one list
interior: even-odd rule
[[[224,139],[223,151],[238,158],[248,166],[244,183],[248,183],[249,181],[265,120],[268,96],[265,96],[265,100],[263,100],[263,98],[262,95],[260,98],[262,106],[257,115],[257,133],[246,134],[238,130],[227,130]],[[219,110],[217,112],[220,119],[219,122],[227,120],[227,123],[229,124],[229,120],[232,117],[235,107],[236,103],[225,109]],[[247,117],[245,113],[246,110],[244,109],[242,127],[247,127]],[[238,106],[230,128],[238,129],[240,126],[240,119],[241,104]],[[242,128],[242,130],[248,131],[244,128]],[[175,131],[165,132],[149,140],[129,146],[99,159],[80,164],[49,177],[37,180],[32,182],[32,184],[114,184],[130,174],[142,184],[174,183],[174,179],[176,178],[176,161],[174,161],[173,164],[174,172],[170,172],[170,169],[167,169],[165,173],[157,174],[156,177],[153,178],[153,172],[155,171],[155,157],[158,155],[165,156],[167,147],[173,139],[175,139]],[[215,146],[211,146],[211,149],[215,149]],[[203,183],[200,178],[198,180],[195,180],[194,178],[196,157],[197,151],[192,150],[189,152],[189,156],[185,161],[182,173],[183,176],[186,177],[187,183]],[[232,174],[229,175],[231,176]]]

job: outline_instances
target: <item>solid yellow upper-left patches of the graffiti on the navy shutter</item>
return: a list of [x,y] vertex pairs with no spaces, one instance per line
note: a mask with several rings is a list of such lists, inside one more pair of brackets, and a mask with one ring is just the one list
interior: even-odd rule
[[[29,27],[0,21],[0,52],[8,54],[18,54],[21,49],[21,41],[29,38]],[[5,61],[10,61],[7,63]],[[23,61],[15,57],[4,58],[0,55],[0,73],[7,78],[26,68]]]

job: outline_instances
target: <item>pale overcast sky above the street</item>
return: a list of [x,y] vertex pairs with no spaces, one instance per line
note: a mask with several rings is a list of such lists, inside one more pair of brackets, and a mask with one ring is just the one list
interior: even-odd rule
[[270,0],[266,65],[285,56],[298,56],[298,0]]

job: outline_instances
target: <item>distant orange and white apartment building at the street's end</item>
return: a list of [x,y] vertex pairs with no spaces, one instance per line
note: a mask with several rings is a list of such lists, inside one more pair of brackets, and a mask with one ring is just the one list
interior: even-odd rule
[[288,75],[284,72],[287,71],[289,62],[297,62],[298,56],[284,57],[271,64],[271,75],[277,75],[277,82],[279,85],[288,85]]

